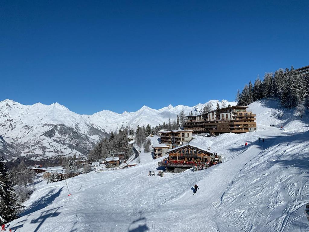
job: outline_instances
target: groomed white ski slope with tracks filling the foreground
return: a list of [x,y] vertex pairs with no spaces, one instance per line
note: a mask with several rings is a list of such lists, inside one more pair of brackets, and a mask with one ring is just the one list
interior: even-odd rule
[[[137,166],[91,172],[49,183],[38,178],[12,231],[309,231],[309,124],[275,101],[255,102],[258,130],[195,136],[224,162],[203,171],[148,176],[157,162],[141,153]],[[275,124],[273,127],[270,125]],[[281,130],[283,126],[283,130]],[[258,137],[265,142],[258,141]],[[156,137],[151,138],[156,143]],[[248,146],[244,146],[248,142]],[[199,191],[193,196],[191,187]]]

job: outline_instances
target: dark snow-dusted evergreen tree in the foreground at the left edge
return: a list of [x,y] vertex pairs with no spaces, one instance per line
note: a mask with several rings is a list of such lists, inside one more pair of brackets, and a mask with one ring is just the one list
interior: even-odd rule
[[10,174],[6,170],[4,159],[0,157],[0,222],[5,224],[18,217],[23,208],[15,200],[14,188],[11,185]]

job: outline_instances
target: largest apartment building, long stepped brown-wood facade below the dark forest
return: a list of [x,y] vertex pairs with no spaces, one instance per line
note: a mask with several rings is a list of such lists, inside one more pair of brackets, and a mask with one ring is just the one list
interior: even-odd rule
[[184,130],[212,135],[256,131],[256,115],[247,109],[248,106],[231,106],[201,115],[187,116]]

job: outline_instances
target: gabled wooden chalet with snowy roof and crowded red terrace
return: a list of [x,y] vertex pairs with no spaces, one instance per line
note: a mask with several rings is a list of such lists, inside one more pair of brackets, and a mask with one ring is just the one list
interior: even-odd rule
[[190,142],[166,152],[169,157],[158,163],[167,171],[181,172],[185,169],[203,165],[208,168],[211,165],[222,162],[222,157],[200,144]]

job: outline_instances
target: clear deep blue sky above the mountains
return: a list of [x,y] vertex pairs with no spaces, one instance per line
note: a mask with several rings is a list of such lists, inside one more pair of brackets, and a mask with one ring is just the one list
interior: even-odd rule
[[0,101],[80,114],[233,101],[258,74],[309,65],[308,5],[1,1]]

